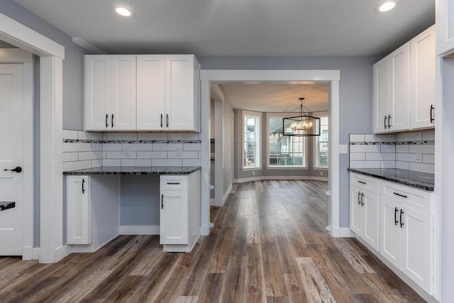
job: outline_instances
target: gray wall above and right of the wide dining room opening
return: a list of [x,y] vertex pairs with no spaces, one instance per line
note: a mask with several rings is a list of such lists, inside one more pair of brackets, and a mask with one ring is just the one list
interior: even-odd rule
[[[372,131],[372,65],[381,57],[198,57],[202,70],[341,70],[339,143]],[[237,152],[238,153],[238,150]],[[349,226],[348,154],[340,155],[340,226]]]

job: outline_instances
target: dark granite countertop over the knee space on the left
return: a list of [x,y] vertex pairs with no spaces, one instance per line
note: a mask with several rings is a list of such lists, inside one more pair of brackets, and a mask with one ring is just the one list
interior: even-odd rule
[[200,166],[105,166],[68,170],[63,175],[189,175]]

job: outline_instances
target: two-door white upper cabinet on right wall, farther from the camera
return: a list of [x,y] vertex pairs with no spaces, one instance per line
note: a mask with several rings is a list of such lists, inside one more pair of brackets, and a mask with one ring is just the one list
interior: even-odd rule
[[373,65],[374,133],[409,128],[410,43]]

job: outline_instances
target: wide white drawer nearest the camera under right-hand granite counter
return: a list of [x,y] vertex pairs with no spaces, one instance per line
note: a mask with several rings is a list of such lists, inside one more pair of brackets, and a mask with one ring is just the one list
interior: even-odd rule
[[431,203],[431,192],[413,189],[392,182],[381,182],[380,196],[386,197],[394,202],[409,206],[426,214],[433,214]]

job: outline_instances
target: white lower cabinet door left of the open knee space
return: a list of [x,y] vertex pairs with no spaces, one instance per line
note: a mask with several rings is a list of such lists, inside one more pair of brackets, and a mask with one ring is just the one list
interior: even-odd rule
[[89,177],[66,177],[66,242],[90,244]]

